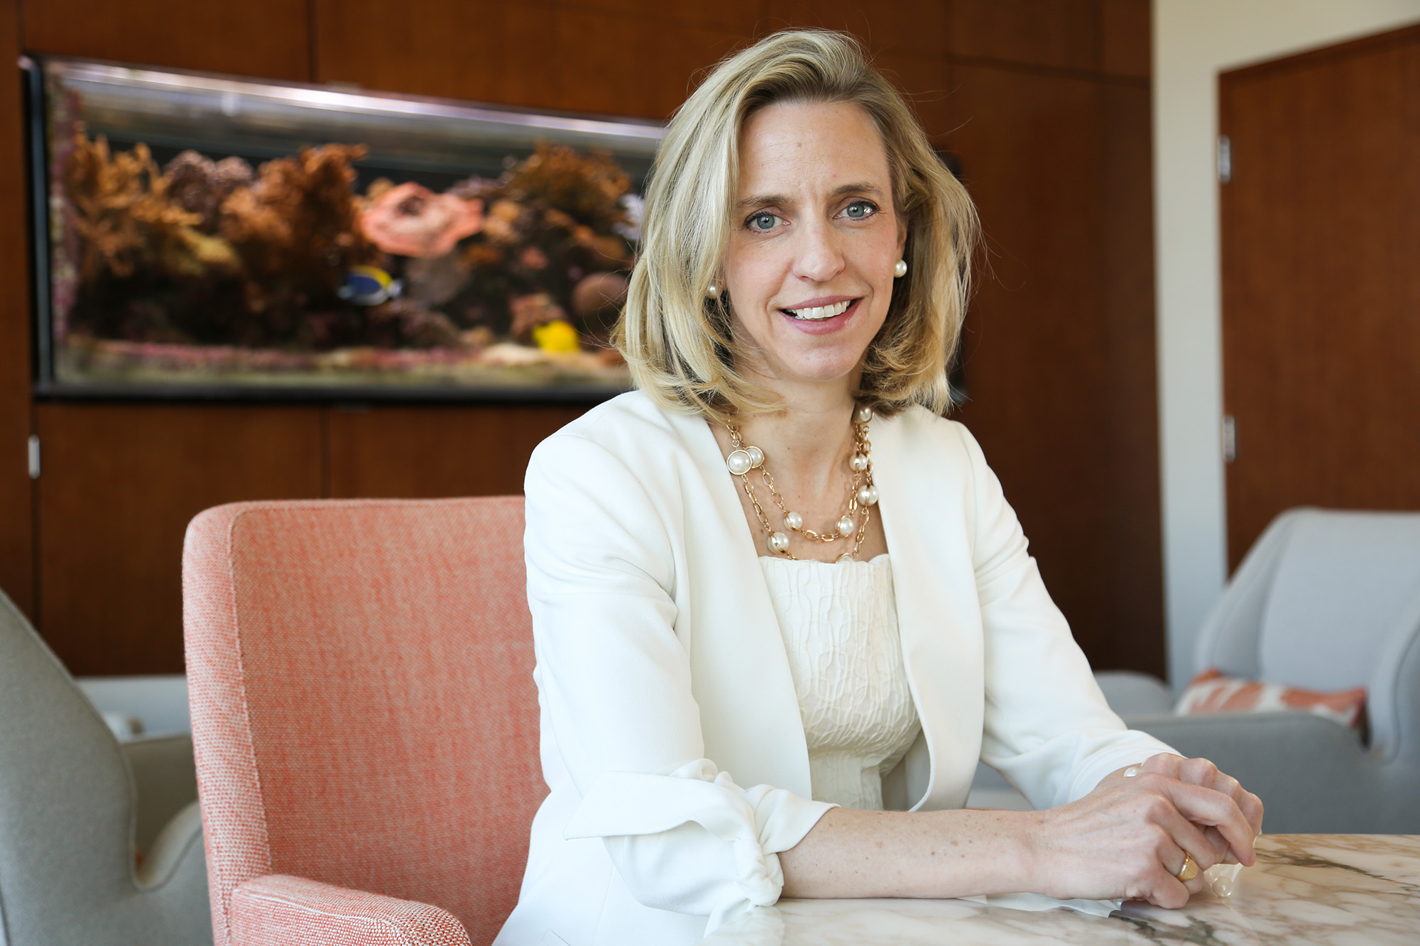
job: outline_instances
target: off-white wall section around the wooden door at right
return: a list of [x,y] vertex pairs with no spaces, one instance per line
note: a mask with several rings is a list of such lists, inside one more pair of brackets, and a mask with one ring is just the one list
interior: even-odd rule
[[1217,75],[1420,20],[1420,0],[1153,0],[1159,433],[1169,672],[1227,574]]

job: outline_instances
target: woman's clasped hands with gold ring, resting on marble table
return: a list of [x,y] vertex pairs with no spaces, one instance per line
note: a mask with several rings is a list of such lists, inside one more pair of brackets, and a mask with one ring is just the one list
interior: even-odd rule
[[[1228,855],[1251,865],[1262,803],[1206,759],[1150,757],[1079,801],[1038,812],[1031,889],[1059,899],[1126,898],[1177,909]],[[1184,855],[1198,874],[1179,881]]]

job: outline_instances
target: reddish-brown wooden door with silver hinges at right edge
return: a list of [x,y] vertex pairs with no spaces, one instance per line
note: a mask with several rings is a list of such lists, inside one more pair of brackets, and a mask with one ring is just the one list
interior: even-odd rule
[[1282,510],[1420,509],[1420,27],[1220,77],[1228,561]]

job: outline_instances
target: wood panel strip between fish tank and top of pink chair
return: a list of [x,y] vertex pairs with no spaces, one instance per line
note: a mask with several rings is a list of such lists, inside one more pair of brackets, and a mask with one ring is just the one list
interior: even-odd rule
[[501,496],[523,491],[532,447],[582,408],[332,408],[335,499]]

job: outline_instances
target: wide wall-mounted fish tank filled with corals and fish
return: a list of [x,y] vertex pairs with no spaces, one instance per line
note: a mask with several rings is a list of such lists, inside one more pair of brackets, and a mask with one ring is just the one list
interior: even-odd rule
[[663,126],[26,60],[41,396],[599,399]]

